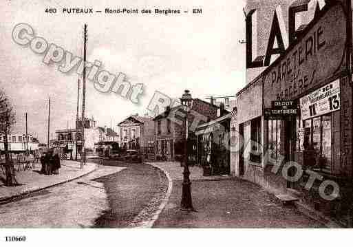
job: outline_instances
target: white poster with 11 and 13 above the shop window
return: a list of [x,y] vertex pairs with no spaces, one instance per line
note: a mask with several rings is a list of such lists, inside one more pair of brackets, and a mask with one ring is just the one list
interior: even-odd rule
[[301,119],[306,120],[341,109],[340,93],[339,80],[335,80],[300,98]]

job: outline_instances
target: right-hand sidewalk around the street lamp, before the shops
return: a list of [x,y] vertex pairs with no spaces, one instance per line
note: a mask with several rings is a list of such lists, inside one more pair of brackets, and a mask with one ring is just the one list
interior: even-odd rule
[[204,180],[199,167],[191,167],[191,194],[197,212],[180,211],[182,168],[177,162],[153,164],[168,171],[173,180],[169,202],[153,228],[325,228],[295,206],[283,206],[257,184],[237,178]]

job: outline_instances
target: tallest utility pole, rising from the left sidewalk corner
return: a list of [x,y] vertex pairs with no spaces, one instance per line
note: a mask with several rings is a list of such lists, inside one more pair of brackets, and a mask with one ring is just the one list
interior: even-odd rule
[[85,150],[85,96],[86,96],[86,48],[87,48],[87,24],[83,28],[83,87],[82,87],[82,151],[81,168],[86,162]]

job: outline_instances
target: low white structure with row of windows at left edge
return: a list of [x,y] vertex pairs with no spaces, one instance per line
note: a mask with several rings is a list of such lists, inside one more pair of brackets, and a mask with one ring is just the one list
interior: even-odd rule
[[[0,150],[4,151],[5,136],[0,136]],[[27,136],[27,142],[24,133],[11,133],[8,135],[9,151],[17,153],[24,152],[26,149],[29,151],[39,150],[39,141],[32,135]],[[27,147],[27,148],[26,148]]]

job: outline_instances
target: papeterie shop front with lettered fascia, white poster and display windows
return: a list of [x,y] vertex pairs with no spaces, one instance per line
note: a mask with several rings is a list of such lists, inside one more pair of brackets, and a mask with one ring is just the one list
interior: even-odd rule
[[[346,21],[343,6],[325,6],[301,39],[261,74],[264,150],[295,160],[304,170],[330,175],[352,171],[351,166],[342,169],[340,157],[342,153],[352,155],[342,150],[341,140],[342,110],[352,109],[345,74]],[[295,107],[286,105],[289,102]],[[295,108],[295,113],[286,111]]]

